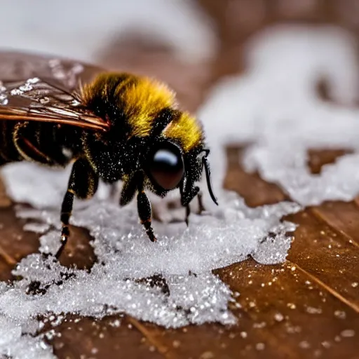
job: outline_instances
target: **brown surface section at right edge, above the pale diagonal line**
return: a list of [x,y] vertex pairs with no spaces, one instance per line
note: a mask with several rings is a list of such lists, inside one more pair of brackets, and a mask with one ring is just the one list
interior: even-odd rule
[[309,273],[310,282],[321,283],[326,291],[358,313],[359,272],[353,269],[359,268],[359,248],[318,221],[311,210],[287,219],[299,224],[287,259]]

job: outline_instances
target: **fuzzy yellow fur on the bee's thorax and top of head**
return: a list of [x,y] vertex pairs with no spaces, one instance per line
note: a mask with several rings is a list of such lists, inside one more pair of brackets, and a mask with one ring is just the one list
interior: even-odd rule
[[[175,93],[164,83],[133,74],[100,74],[81,90],[87,107],[107,103],[118,107],[129,128],[128,138],[148,137],[163,111],[173,114],[163,136],[179,143],[186,153],[203,142],[196,118],[177,110]],[[101,102],[100,102],[101,100]]]

